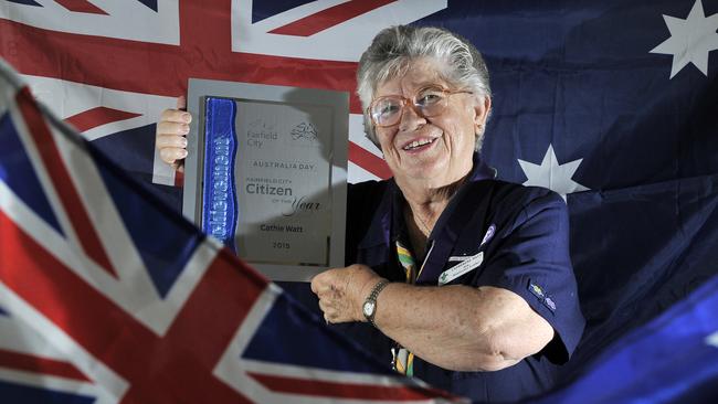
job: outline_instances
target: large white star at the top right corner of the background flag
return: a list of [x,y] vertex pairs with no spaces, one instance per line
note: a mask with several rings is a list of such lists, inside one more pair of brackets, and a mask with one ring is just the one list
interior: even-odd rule
[[651,53],[673,55],[671,78],[688,63],[708,76],[708,53],[718,49],[718,14],[706,17],[703,3],[696,0],[685,20],[665,14],[663,19],[671,31],[671,38]]

